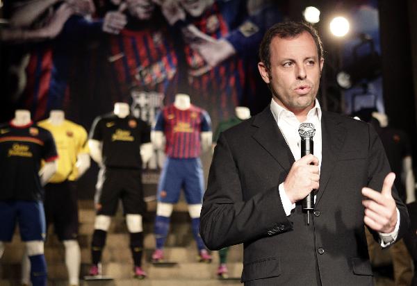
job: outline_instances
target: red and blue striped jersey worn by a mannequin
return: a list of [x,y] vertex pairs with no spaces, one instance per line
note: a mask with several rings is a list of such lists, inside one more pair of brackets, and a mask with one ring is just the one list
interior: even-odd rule
[[156,115],[154,131],[165,134],[168,157],[197,158],[201,153],[200,133],[211,131],[211,119],[206,110],[197,106],[179,110],[171,104]]

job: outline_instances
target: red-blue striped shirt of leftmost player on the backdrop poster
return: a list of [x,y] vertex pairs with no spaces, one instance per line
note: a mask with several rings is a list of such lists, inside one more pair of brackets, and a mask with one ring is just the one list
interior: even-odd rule
[[31,110],[35,121],[47,117],[50,110],[65,109],[70,101],[71,45],[97,33],[101,33],[101,21],[89,22],[74,15],[55,39],[33,44],[25,71],[27,82],[22,104]]

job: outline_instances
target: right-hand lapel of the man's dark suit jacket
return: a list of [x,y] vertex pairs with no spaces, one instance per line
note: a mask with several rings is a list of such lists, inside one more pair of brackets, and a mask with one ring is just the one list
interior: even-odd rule
[[338,160],[338,153],[345,140],[345,127],[332,114],[322,113],[322,165],[320,168],[320,187],[316,197],[316,205],[326,190],[327,183]]

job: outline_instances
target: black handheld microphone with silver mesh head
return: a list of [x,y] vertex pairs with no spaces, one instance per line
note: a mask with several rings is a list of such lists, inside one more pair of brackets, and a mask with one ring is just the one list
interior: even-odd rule
[[[305,155],[313,154],[314,142],[313,136],[316,134],[316,128],[312,123],[302,123],[298,128],[298,134],[301,137],[301,158]],[[302,210],[307,212],[307,225],[310,224],[310,210],[314,209],[314,194],[310,192],[302,200]]]

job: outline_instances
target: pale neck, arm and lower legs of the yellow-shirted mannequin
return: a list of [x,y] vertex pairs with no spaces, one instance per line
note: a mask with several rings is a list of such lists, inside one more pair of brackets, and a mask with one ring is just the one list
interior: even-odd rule
[[[65,120],[63,110],[51,110],[49,112],[48,121],[50,124],[60,126]],[[75,167],[78,169],[78,176],[81,177],[90,168],[90,155],[88,153],[80,153],[77,155]],[[68,270],[68,278],[70,285],[79,285],[79,272],[81,263],[81,250],[76,239],[63,240],[65,246],[65,264]],[[22,284],[28,285],[30,264],[25,253],[22,261]]]

